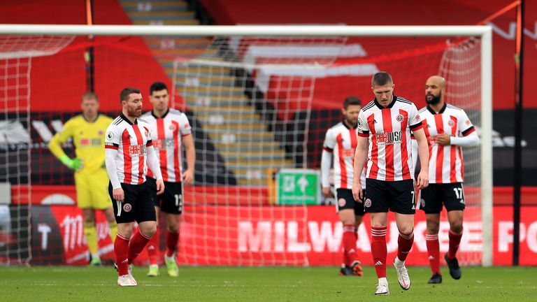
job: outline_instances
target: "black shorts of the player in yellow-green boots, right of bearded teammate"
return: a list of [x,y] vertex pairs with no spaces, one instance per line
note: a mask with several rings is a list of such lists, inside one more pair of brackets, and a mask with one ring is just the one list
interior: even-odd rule
[[182,182],[164,182],[164,193],[157,195],[157,180],[148,178],[150,192],[153,196],[153,204],[164,213],[182,213]]

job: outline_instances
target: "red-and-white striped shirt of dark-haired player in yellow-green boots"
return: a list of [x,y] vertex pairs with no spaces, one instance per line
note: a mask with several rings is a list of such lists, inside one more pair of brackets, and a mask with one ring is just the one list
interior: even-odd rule
[[[181,182],[182,137],[191,134],[187,115],[176,109],[169,109],[162,117],[152,111],[142,115],[149,124],[153,147],[160,161],[160,170],[165,182]],[[153,177],[151,171],[148,175]]]

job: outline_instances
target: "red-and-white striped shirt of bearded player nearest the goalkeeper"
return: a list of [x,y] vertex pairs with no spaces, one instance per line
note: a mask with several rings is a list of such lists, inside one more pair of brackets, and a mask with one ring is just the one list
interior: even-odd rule
[[105,148],[117,150],[117,178],[128,185],[141,185],[148,173],[148,150],[152,146],[149,124],[140,118],[134,124],[123,114],[106,129]]

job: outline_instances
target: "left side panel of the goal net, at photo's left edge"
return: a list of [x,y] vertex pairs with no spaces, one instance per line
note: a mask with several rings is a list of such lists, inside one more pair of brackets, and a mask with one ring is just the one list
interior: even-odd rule
[[0,36],[0,264],[31,259],[31,58],[53,55],[73,37]]

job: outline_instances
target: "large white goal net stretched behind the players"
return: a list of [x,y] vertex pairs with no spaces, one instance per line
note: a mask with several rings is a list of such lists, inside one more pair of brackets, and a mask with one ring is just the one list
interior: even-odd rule
[[[0,168],[6,171],[0,182],[10,182],[12,194],[10,229],[0,229],[8,233],[0,237],[8,243],[0,243],[1,263],[87,263],[82,216],[73,206],[73,175],[50,154],[47,143],[80,113],[90,46],[101,113],[118,115],[124,87],[140,88],[143,110],[151,110],[148,90],[158,80],[169,87],[171,108],[189,118],[196,174],[184,194],[178,254],[184,265],[339,264],[342,226],[334,201],[320,194],[322,141],[327,129],[341,121],[345,97],[358,96],[364,105],[373,99],[375,72],[391,73],[395,94],[418,108],[425,104],[425,80],[443,75],[447,101],[481,126],[479,37],[447,43],[445,37],[261,36],[255,31],[159,36],[164,27],[153,28],[155,36],[96,36],[92,41],[71,36],[58,46],[62,51],[41,61],[22,55],[1,61],[17,66],[4,68],[5,78],[25,79],[10,86],[25,101],[0,96],[7,108],[0,122],[19,123],[26,140],[20,143],[25,148],[0,150]],[[4,138],[10,137],[8,131]],[[71,143],[64,150],[74,155]],[[473,233],[481,231],[480,158],[479,148],[464,153],[465,228]],[[17,194],[27,202],[17,201]],[[108,224],[101,213],[96,219],[101,258],[113,259]],[[417,222],[416,232],[424,233],[424,220]],[[368,223],[366,218],[358,238],[365,264],[371,262]],[[160,226],[165,229],[164,221]],[[391,218],[389,253],[396,252],[394,230]],[[162,231],[162,249],[164,238]],[[447,250],[444,225],[440,238],[441,250]],[[424,246],[424,240],[416,243],[413,264],[427,264]],[[480,238],[463,238],[461,262],[480,264],[481,251]],[[137,264],[146,259],[142,254]]]

